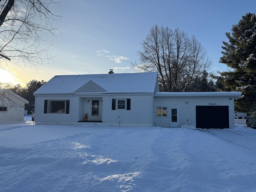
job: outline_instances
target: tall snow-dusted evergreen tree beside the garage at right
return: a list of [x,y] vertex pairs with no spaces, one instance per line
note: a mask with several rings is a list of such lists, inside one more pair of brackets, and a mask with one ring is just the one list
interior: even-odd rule
[[225,91],[241,91],[242,96],[235,101],[235,110],[253,112],[256,110],[256,16],[247,13],[232,33],[226,33],[229,42],[223,42],[220,63],[230,67],[230,71],[220,72],[218,82]]

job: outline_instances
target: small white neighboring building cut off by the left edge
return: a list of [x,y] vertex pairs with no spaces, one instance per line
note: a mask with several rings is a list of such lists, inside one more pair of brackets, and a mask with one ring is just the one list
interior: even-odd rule
[[0,122],[23,121],[24,105],[29,102],[7,89],[0,89]]

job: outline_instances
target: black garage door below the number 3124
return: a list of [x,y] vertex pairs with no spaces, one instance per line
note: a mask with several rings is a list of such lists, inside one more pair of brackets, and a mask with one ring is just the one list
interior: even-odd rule
[[229,128],[228,106],[196,106],[196,128]]

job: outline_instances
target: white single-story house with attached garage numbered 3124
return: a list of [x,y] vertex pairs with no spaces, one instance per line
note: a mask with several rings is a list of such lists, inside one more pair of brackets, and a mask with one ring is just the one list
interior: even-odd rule
[[234,127],[241,92],[159,92],[158,74],[54,76],[36,92],[36,124]]

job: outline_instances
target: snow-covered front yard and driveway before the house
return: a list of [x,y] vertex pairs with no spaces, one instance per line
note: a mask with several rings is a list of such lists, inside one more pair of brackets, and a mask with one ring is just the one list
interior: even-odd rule
[[256,130],[0,124],[2,192],[252,192]]

